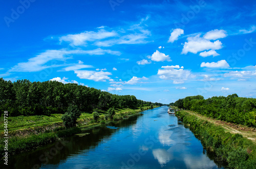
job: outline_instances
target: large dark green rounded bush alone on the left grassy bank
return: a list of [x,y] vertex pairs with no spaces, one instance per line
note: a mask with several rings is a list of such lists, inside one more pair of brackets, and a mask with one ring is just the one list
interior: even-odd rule
[[61,119],[66,128],[75,127],[77,123],[76,120],[80,115],[81,112],[76,105],[69,106],[67,112],[61,116]]

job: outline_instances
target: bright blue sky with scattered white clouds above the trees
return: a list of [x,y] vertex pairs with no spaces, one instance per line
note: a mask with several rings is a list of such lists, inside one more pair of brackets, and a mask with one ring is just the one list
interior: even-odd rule
[[256,98],[254,1],[2,2],[0,77],[171,103]]

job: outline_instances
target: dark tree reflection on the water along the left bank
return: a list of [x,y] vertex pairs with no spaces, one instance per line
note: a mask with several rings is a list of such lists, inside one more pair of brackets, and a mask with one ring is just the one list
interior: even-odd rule
[[[86,130],[86,133],[90,133],[88,135],[84,135],[82,137],[72,136],[65,138],[64,140],[66,140],[68,143],[66,143],[61,150],[58,150],[54,156],[52,156],[49,152],[52,148],[55,148],[58,141],[48,144],[45,147],[41,147],[33,152],[25,152],[12,156],[9,158],[8,166],[5,166],[4,168],[33,168],[35,164],[45,167],[46,165],[44,165],[44,163],[46,163],[46,160],[49,160],[47,164],[62,163],[62,161],[65,161],[68,157],[70,157],[70,155],[76,156],[81,153],[89,152],[91,149],[95,149],[95,147],[97,147],[103,139],[110,138],[111,135],[117,132],[120,128],[125,128],[136,124],[138,117],[141,115],[143,114],[136,114],[130,116],[129,118],[107,124],[107,126],[117,127],[115,130],[102,125],[100,127]],[[57,147],[61,146],[61,143],[57,143]],[[45,153],[49,153],[49,157],[47,157]],[[41,157],[41,161],[39,160],[39,157]],[[92,165],[90,165],[90,167],[92,167]]]

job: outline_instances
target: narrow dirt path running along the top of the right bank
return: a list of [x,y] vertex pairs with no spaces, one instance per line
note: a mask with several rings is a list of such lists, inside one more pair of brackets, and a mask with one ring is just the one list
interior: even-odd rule
[[256,143],[256,128],[246,127],[243,125],[236,125],[229,122],[223,122],[221,120],[217,120],[214,118],[205,117],[193,111],[188,111],[188,110],[185,110],[185,111],[197,116],[198,118],[208,120],[208,122],[210,123],[214,123],[216,125],[222,126],[227,132],[234,133],[234,134],[239,133]]

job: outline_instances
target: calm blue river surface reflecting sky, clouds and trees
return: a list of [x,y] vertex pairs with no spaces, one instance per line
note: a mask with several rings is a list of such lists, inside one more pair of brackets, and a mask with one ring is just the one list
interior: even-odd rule
[[[9,158],[9,168],[218,168],[167,106]],[[212,157],[211,157],[212,158]],[[214,157],[213,157],[214,158]]]

